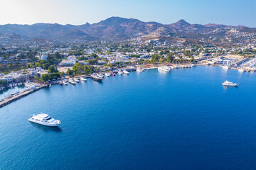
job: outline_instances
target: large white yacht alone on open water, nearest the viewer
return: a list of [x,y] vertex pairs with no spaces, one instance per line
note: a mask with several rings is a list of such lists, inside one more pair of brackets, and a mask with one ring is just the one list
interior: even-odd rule
[[46,125],[46,126],[58,126],[61,123],[60,120],[55,120],[54,118],[50,118],[50,116],[45,113],[32,115],[31,118],[28,119],[28,121],[33,123],[38,123],[40,125]]

